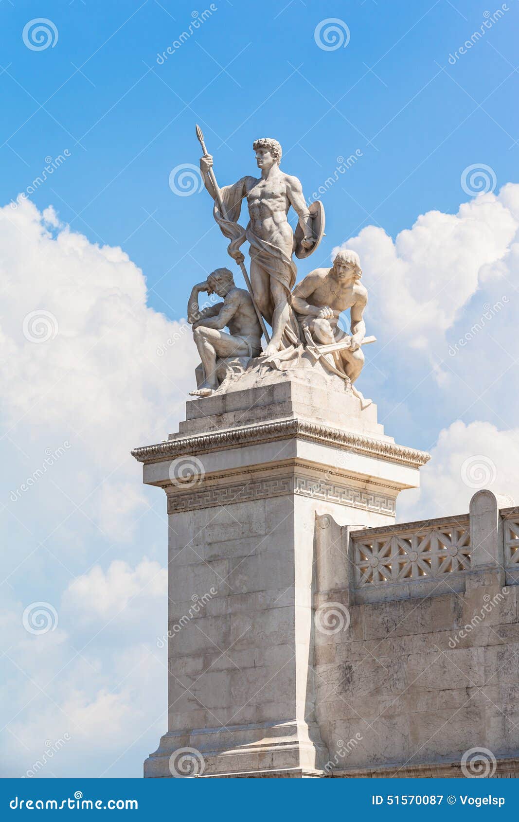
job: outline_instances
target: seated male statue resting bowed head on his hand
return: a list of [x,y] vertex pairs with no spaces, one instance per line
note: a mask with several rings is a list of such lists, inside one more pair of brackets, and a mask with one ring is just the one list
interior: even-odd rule
[[[224,302],[198,307],[198,294],[216,293]],[[188,322],[202,360],[202,379],[192,396],[208,397],[219,385],[217,358],[257,357],[262,352],[262,329],[248,291],[238,289],[228,268],[215,269],[194,286],[188,302]],[[229,327],[230,334],[223,330]]]

